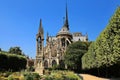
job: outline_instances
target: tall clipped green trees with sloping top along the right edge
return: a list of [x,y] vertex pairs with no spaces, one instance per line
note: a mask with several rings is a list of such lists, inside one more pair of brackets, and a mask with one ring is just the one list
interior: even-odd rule
[[120,7],[82,60],[83,69],[98,68],[106,76],[120,74]]

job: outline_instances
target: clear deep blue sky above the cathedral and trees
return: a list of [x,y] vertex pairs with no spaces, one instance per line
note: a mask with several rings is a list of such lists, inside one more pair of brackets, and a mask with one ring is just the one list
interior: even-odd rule
[[36,34],[40,19],[46,33],[55,36],[62,28],[66,3],[70,32],[88,34],[95,41],[107,26],[120,0],[0,0],[0,48],[19,46],[36,56]]

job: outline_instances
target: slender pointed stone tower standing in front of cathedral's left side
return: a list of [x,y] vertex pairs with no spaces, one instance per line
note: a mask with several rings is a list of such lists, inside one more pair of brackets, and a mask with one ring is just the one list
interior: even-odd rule
[[40,75],[43,74],[44,70],[44,30],[42,27],[42,20],[40,19],[40,25],[38,34],[36,35],[37,42],[37,51],[36,51],[36,60],[35,60],[35,71]]

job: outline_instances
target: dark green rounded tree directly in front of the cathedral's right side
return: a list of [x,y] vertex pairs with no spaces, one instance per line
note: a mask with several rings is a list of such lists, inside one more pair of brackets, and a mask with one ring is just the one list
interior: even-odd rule
[[68,69],[80,72],[81,70],[81,57],[87,52],[88,42],[75,42],[68,46],[65,54],[65,64]]

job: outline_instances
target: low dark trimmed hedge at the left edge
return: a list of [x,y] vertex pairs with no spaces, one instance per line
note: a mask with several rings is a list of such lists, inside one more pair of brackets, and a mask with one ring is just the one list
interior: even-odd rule
[[0,71],[18,71],[26,68],[25,57],[7,52],[0,52]]

